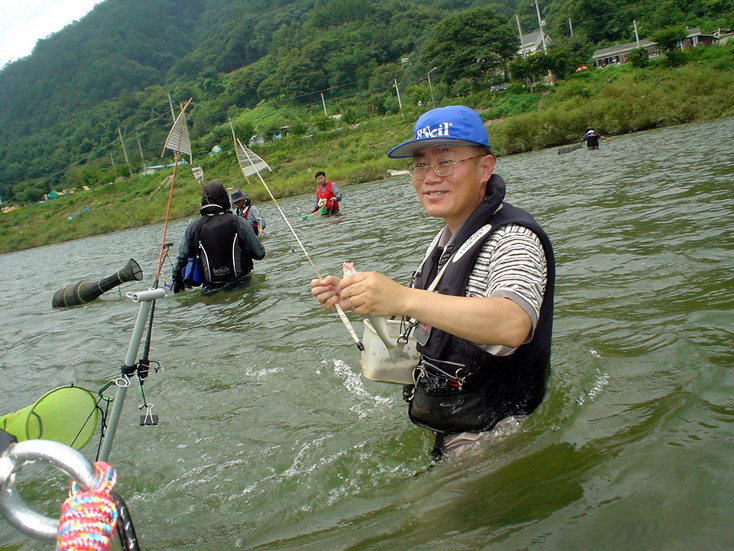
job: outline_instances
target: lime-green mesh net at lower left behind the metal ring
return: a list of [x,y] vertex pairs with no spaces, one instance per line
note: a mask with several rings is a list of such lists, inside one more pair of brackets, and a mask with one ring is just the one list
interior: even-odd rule
[[98,419],[94,395],[70,385],[55,388],[30,406],[0,416],[0,429],[18,442],[42,438],[80,450],[97,430]]

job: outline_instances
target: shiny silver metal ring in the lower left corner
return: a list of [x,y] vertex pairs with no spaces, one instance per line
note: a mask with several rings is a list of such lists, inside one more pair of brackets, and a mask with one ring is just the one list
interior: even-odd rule
[[15,489],[15,475],[27,463],[41,461],[56,467],[80,484],[94,487],[96,473],[89,460],[74,448],[51,440],[26,440],[11,445],[0,455],[0,516],[25,535],[55,540],[59,520],[37,513]]

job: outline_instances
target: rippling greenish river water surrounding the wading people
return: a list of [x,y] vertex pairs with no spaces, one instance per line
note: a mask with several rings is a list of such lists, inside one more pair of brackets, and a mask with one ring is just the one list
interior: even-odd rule
[[[144,390],[159,424],[139,426],[132,387],[110,456],[142,547],[732,548],[732,138],[724,119],[498,160],[507,199],[556,249],[549,393],[521,428],[436,465],[400,387],[360,375],[338,318],[308,294],[311,267],[261,205],[267,258],[245,289],[158,301],[162,369]],[[405,177],[344,191],[340,218],[294,222],[319,270],[351,260],[407,282],[439,222]],[[280,205],[295,221],[310,200]],[[161,229],[0,256],[0,414],[117,375],[137,305],[117,289],[66,310],[51,297],[130,257],[149,284]],[[58,507],[61,480],[29,478],[24,497]],[[0,549],[49,548],[0,519]]]

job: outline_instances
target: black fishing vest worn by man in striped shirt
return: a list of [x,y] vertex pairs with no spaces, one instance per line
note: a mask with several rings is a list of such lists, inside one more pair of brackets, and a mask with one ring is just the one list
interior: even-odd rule
[[[497,205],[496,198],[486,198],[464,222],[455,236],[453,255],[435,291],[465,296],[469,276],[484,243],[498,228],[519,224],[538,236],[547,259],[548,281],[540,316],[532,340],[509,356],[493,356],[475,343],[430,329],[427,341],[418,345],[423,355],[418,383],[406,390],[412,390],[410,419],[436,432],[491,430],[505,417],[531,413],[545,395],[553,326],[553,248],[543,229],[527,212],[508,203],[502,203],[497,211]],[[437,253],[436,249],[438,245],[432,253]],[[429,253],[417,274],[416,288],[430,286],[438,272],[439,256]]]

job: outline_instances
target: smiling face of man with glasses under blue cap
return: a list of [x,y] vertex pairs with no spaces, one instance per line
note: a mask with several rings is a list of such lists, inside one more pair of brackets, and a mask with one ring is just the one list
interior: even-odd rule
[[[466,220],[484,199],[487,182],[494,170],[494,157],[481,155],[481,148],[460,145],[437,145],[421,149],[413,155],[413,165],[437,166],[441,161],[461,161],[453,165],[448,176],[439,176],[428,169],[425,179],[413,178],[413,188],[418,200],[429,216],[441,218],[452,232]],[[476,159],[471,159],[480,155]]]

